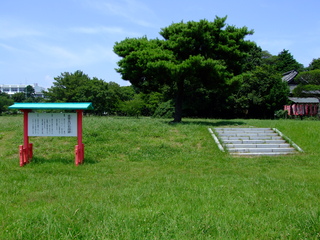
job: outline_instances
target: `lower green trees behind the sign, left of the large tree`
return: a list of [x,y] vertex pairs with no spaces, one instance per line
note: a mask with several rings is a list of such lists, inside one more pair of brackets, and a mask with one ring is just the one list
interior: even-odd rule
[[90,78],[80,70],[55,77],[53,86],[43,94],[44,97],[36,97],[30,85],[25,92],[11,96],[0,92],[0,115],[16,112],[8,111],[8,106],[14,102],[92,102],[94,110],[90,114],[150,116],[162,101],[159,93],[137,93],[133,86],[121,87],[115,82]]

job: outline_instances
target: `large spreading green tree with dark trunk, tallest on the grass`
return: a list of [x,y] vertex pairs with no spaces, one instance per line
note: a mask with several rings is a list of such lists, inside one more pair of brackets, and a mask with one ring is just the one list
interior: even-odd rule
[[[200,20],[173,23],[161,29],[163,39],[127,38],[114,52],[122,59],[117,71],[143,92],[171,89],[175,97],[174,121],[182,119],[187,89],[222,89],[245,69],[255,43],[245,40],[253,31],[225,23]],[[186,87],[187,86],[187,87]],[[227,88],[226,88],[227,89]]]

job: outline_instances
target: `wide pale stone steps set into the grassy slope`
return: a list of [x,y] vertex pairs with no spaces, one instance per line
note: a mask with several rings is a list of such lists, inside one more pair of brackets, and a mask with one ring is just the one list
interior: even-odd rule
[[[210,129],[211,130],[211,129]],[[283,155],[297,153],[282,134],[270,128],[214,128],[224,148],[232,155]],[[211,131],[212,134],[214,134]]]

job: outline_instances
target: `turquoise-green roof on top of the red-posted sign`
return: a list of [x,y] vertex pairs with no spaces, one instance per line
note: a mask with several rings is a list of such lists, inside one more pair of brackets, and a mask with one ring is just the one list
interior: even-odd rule
[[92,103],[14,103],[9,109],[60,109],[60,110],[93,110]]

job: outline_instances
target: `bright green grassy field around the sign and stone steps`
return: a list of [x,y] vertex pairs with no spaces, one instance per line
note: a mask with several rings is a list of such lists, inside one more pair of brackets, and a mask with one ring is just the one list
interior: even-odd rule
[[[320,239],[320,121],[84,118],[76,138],[0,117],[0,239]],[[232,157],[208,127],[276,127],[305,152]]]

